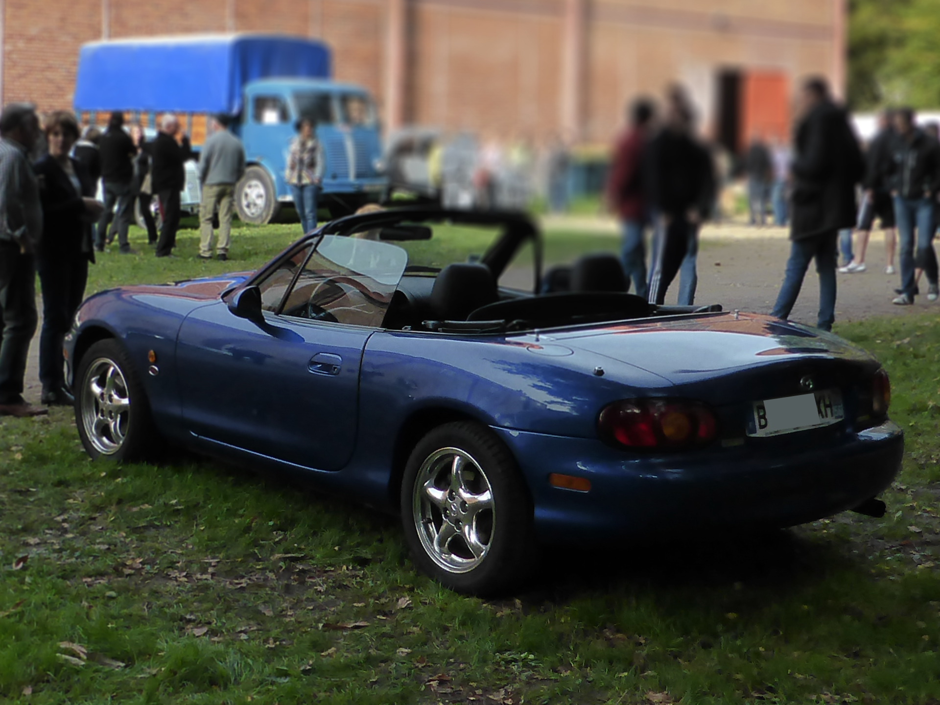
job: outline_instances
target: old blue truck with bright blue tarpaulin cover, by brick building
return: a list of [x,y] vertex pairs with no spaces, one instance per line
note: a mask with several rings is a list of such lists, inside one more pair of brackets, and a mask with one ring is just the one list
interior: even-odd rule
[[[290,189],[284,180],[294,123],[313,118],[325,153],[321,205],[337,216],[386,196],[375,103],[361,86],[330,80],[321,41],[256,34],[193,35],[96,41],[82,46],[74,108],[92,123],[119,110],[152,128],[180,116],[194,149],[207,118],[225,113],[243,141],[248,168],[236,189],[239,217],[272,221]],[[187,169],[183,207],[199,200],[196,169]]]

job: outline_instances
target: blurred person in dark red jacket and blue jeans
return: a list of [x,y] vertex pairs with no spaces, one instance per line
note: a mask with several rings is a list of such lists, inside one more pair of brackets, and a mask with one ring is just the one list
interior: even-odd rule
[[655,109],[650,100],[639,98],[631,104],[630,127],[619,136],[614,146],[606,188],[607,206],[620,220],[623,237],[620,258],[627,278],[627,290],[633,282],[636,295],[644,299],[648,293],[645,232],[650,222],[644,171],[654,117]]

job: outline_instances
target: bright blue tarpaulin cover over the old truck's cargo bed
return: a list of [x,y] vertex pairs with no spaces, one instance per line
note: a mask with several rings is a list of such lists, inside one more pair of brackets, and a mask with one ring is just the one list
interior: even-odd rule
[[195,35],[85,44],[74,107],[229,113],[258,78],[329,78],[330,51],[310,39],[273,35]]

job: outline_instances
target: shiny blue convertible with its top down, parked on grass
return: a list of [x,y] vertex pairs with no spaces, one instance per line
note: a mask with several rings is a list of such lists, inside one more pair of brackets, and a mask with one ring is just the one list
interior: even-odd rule
[[82,441],[300,471],[477,594],[540,544],[878,513],[903,437],[868,353],[650,305],[608,255],[542,273],[541,247],[521,215],[401,209],[255,273],[102,291],[66,341]]

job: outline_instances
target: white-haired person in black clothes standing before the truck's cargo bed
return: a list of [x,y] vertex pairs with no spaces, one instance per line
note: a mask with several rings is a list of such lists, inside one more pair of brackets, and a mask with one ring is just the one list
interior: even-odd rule
[[150,147],[150,183],[160,198],[164,222],[157,241],[157,257],[172,257],[176,246],[176,233],[180,227],[180,191],[186,185],[184,164],[194,159],[189,137],[183,134],[180,142],[180,120],[172,114],[160,121],[160,132]]

